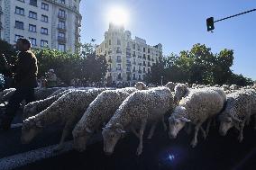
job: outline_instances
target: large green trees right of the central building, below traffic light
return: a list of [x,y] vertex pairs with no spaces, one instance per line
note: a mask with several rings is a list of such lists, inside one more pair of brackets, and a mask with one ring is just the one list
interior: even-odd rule
[[250,78],[233,74],[233,50],[223,49],[218,54],[213,54],[206,45],[195,44],[189,51],[180,51],[179,56],[171,53],[164,57],[155,66],[147,81],[160,84],[163,82],[188,82],[190,84],[204,85],[251,85]]

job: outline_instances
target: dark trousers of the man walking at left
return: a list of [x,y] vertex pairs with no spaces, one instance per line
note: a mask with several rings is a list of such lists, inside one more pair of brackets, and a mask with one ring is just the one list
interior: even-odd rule
[[7,106],[5,116],[2,120],[2,126],[9,128],[14,116],[20,107],[20,103],[25,100],[26,103],[31,103],[35,100],[33,88],[17,88],[11,96]]

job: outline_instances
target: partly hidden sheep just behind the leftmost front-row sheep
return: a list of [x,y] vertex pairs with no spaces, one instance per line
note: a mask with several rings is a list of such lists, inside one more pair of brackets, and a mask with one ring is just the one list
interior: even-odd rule
[[50,104],[52,104],[56,100],[58,100],[59,97],[61,97],[64,94],[68,94],[72,90],[75,90],[75,89],[65,90],[65,91],[63,91],[63,92],[61,92],[59,94],[50,96],[50,97],[48,97],[46,99],[26,104],[24,106],[24,108],[23,108],[23,120],[25,120],[25,119],[27,119],[27,118],[29,118],[31,116],[34,116],[36,113],[42,112],[43,110],[48,108],[50,106]]

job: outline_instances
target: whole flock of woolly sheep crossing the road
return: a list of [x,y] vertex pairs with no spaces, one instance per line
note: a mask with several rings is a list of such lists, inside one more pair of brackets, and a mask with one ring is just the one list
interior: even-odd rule
[[[15,89],[0,93],[0,102],[8,101]],[[160,87],[148,88],[142,82],[122,89],[106,88],[41,88],[35,91],[37,101],[23,106],[21,140],[29,143],[44,128],[53,124],[64,125],[59,145],[72,134],[73,147],[84,151],[87,141],[102,130],[105,154],[112,154],[114,146],[131,132],[139,139],[137,155],[142,154],[144,131],[150,126],[147,139],[151,139],[158,124],[175,139],[185,126],[194,127],[191,146],[197,146],[198,131],[203,137],[209,133],[211,122],[220,121],[219,133],[225,135],[231,128],[239,130],[251,116],[256,122],[256,85],[191,85],[169,82]],[[206,129],[203,128],[206,123]],[[256,130],[256,123],[255,123]]]

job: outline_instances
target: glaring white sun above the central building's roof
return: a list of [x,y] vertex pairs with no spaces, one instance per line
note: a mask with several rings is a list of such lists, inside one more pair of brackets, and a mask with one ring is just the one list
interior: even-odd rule
[[128,23],[128,13],[122,7],[112,7],[108,12],[107,21],[116,25],[125,25]]

